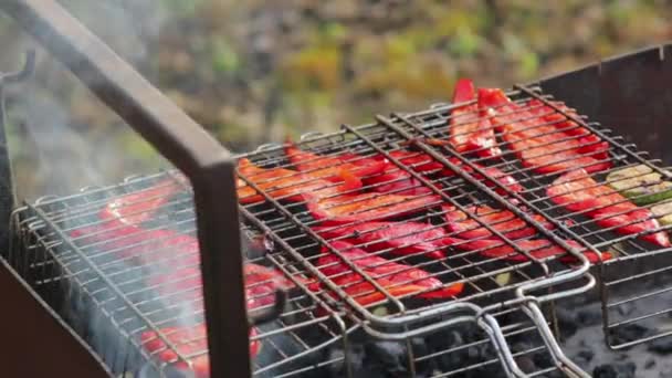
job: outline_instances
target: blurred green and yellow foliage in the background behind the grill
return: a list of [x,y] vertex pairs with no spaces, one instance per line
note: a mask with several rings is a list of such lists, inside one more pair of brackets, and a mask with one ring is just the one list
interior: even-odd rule
[[[118,0],[104,13],[63,2],[234,150],[448,101],[461,76],[506,87],[672,38],[670,0]],[[1,18],[0,32],[6,51],[23,46]],[[117,128],[72,82],[42,56],[38,90],[72,124]],[[133,136],[114,140],[129,170],[151,160]]]

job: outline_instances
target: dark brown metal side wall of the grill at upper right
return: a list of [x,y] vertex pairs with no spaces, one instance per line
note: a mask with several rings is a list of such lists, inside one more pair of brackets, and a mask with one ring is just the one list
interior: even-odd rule
[[672,44],[613,56],[539,81],[544,92],[672,164]]

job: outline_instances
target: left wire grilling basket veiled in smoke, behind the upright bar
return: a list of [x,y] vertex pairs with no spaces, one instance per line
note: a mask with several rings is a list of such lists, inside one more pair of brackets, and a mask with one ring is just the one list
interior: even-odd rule
[[[161,174],[48,198],[18,210],[14,227],[8,261],[115,374],[208,376],[193,206],[179,180]],[[274,305],[274,288],[288,292],[280,317],[250,333],[255,376],[343,364],[323,354],[344,342],[345,324],[301,290],[305,277],[282,252],[263,253],[263,238],[243,232],[251,314]]]

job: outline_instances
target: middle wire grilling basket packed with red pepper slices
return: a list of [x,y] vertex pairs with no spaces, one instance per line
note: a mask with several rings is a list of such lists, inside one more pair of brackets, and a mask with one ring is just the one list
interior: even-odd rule
[[[441,119],[420,129],[445,130],[449,113],[414,117]],[[524,219],[507,199],[474,186],[463,177],[466,165],[452,161],[462,168],[453,169],[414,144],[379,122],[245,155],[243,213],[287,244],[319,280],[316,292],[386,326],[452,302],[498,305],[522,285],[568,275],[565,263],[586,252],[538,214]],[[392,168],[371,171],[384,160]],[[490,170],[479,179],[489,186],[516,186],[515,171],[482,167]],[[348,187],[353,175],[361,187]],[[375,314],[381,305],[388,311]]]

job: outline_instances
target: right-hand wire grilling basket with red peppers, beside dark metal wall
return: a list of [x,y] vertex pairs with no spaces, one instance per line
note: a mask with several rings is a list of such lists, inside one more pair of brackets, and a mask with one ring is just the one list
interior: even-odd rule
[[[553,119],[550,124],[566,123],[563,126],[563,133],[558,133],[557,146],[548,146],[540,144],[531,144],[531,148],[543,146],[545,153],[539,153],[538,156],[553,156],[557,153],[563,141],[580,140],[584,143],[584,137],[587,130],[589,134],[596,135],[600,141],[608,143],[608,156],[599,156],[595,164],[608,164],[602,169],[596,169],[586,180],[584,176],[570,178],[579,168],[589,168],[589,165],[581,165],[577,161],[571,161],[570,167],[558,169],[553,172],[544,172],[544,166],[524,165],[521,161],[521,151],[511,148],[511,144],[506,143],[503,133],[495,132],[500,143],[496,147],[502,149],[502,160],[493,165],[502,170],[511,172],[518,179],[518,182],[525,187],[516,197],[522,200],[522,203],[536,212],[544,214],[549,219],[555,219],[566,225],[567,233],[574,239],[581,242],[582,245],[590,246],[599,251],[609,251],[611,259],[607,260],[596,271],[599,274],[600,282],[600,301],[602,302],[603,327],[608,344],[612,348],[627,348],[643,342],[651,342],[657,338],[672,335],[665,330],[664,323],[668,315],[672,312],[670,296],[672,286],[669,284],[670,263],[668,252],[670,246],[654,243],[657,237],[662,239],[668,238],[670,223],[665,218],[670,216],[672,209],[665,208],[664,201],[653,201],[647,204],[632,206],[632,201],[647,199],[648,196],[665,197],[665,187],[648,187],[649,191],[642,192],[639,196],[630,197],[615,193],[612,189],[613,179],[611,175],[617,170],[632,169],[637,167],[645,167],[642,172],[631,175],[631,179],[638,180],[645,178],[647,175],[658,174],[663,180],[670,179],[670,172],[665,169],[660,160],[651,159],[645,151],[641,151],[633,144],[627,144],[622,136],[613,133],[612,129],[600,125],[599,123],[589,122],[587,117],[580,116],[577,109],[566,107],[561,102],[556,101],[553,96],[543,94],[538,88],[518,87],[525,94],[537,101],[537,107],[543,108],[546,114],[546,119]],[[529,104],[529,103],[527,103]],[[527,106],[529,109],[532,106]],[[445,106],[443,107],[445,108]],[[423,115],[411,115],[395,118],[395,122],[407,127],[422,137],[442,139],[448,137],[448,130],[444,125],[450,122],[450,115],[441,112],[427,113]],[[421,130],[418,127],[421,126]],[[544,124],[537,123],[529,126],[543,127]],[[574,132],[571,132],[574,130]],[[543,133],[540,129],[538,133]],[[596,144],[596,141],[592,141]],[[588,144],[590,145],[590,144]],[[444,150],[450,154],[451,151]],[[544,155],[546,154],[546,155]],[[590,154],[586,154],[590,156]],[[594,156],[596,156],[595,153]],[[474,162],[482,162],[485,159],[473,158]],[[550,160],[557,162],[557,160]],[[649,172],[649,174],[647,174]],[[569,175],[569,176],[567,176]],[[589,190],[599,188],[599,193],[592,195],[598,201],[590,203],[585,201],[581,209],[577,204],[581,202],[575,199],[574,202],[559,203],[557,193],[549,192],[549,188],[558,185],[559,177],[565,177],[565,181],[571,183],[585,183],[585,188],[573,188],[567,195],[581,195]],[[569,178],[568,178],[569,177]],[[636,182],[634,181],[634,182]],[[631,181],[632,182],[632,181]],[[639,183],[621,185],[618,187],[621,191],[637,189],[640,186],[645,186],[647,181]],[[605,189],[606,188],[606,189]],[[620,197],[620,198],[619,198]],[[600,198],[608,198],[607,201],[600,201]],[[651,198],[651,197],[649,197]],[[575,208],[570,208],[575,204]],[[658,207],[658,211],[652,211],[652,208]],[[642,212],[647,211],[647,212]],[[631,214],[632,218],[628,218]],[[651,221],[655,220],[657,223]],[[647,223],[643,223],[647,222]],[[630,230],[628,230],[630,227]],[[660,239],[660,238],[659,238]],[[633,327],[645,327],[649,332],[628,333],[628,329]],[[622,337],[623,334],[633,336]]]

